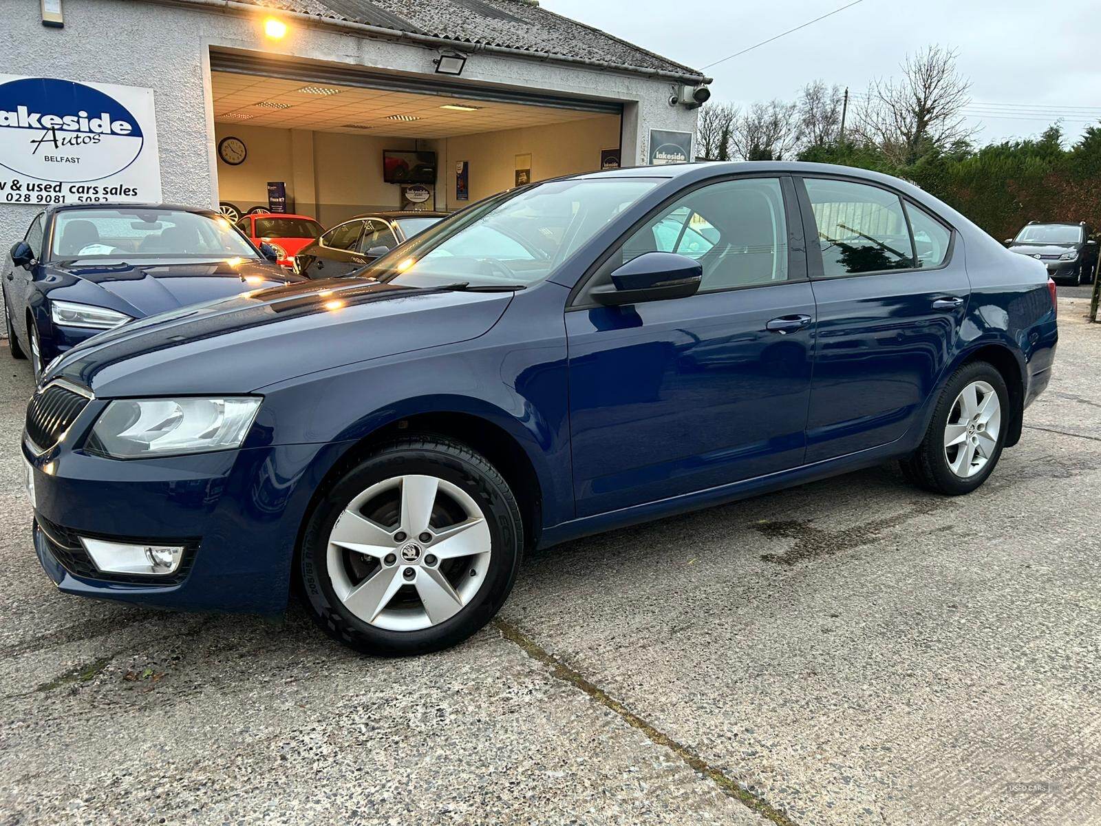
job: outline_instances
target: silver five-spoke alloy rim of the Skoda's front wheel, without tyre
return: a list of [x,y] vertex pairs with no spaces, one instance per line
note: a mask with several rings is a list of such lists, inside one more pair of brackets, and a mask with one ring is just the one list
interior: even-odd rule
[[408,475],[372,485],[337,518],[326,564],[338,599],[389,631],[446,622],[473,599],[492,539],[473,498],[446,479]]

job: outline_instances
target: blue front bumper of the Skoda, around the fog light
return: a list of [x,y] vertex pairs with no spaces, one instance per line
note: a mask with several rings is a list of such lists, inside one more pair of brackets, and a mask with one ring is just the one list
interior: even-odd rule
[[[253,447],[119,461],[25,446],[35,488],[34,547],[67,594],[179,610],[279,613],[302,520],[345,445]],[[178,576],[111,576],[78,536],[185,542]]]

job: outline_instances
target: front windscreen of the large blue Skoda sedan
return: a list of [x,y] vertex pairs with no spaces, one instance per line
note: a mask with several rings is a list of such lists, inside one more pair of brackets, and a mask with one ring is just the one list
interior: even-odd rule
[[368,274],[410,286],[534,284],[658,183],[574,178],[515,189],[457,213],[380,258]]

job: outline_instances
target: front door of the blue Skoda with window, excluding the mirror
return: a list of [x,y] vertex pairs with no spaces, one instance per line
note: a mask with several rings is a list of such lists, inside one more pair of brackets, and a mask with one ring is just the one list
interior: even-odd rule
[[[793,193],[780,177],[689,192],[621,243],[567,312],[578,517],[803,463],[815,306]],[[587,301],[654,250],[697,259],[699,293]]]

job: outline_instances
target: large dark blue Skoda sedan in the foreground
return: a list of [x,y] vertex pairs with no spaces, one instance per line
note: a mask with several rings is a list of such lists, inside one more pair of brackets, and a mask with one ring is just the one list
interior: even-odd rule
[[66,593],[451,645],[526,550],[902,463],[968,493],[1058,333],[1044,265],[909,184],[686,164],[490,198],[359,278],[133,320],[39,383]]

